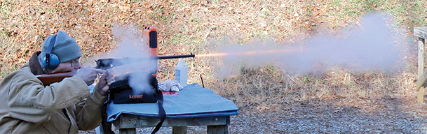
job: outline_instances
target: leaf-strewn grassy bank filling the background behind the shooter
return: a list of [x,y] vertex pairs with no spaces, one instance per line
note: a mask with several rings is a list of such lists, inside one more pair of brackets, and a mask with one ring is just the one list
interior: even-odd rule
[[[217,40],[247,43],[270,38],[297,43],[318,29],[339,31],[355,27],[362,15],[385,11],[403,27],[405,40],[413,41],[412,27],[426,25],[427,3],[417,1],[5,1],[0,0],[0,78],[26,63],[43,39],[58,30],[76,38],[83,57],[109,52],[117,40],[113,24],[154,26],[158,29],[159,54],[215,52]],[[354,73],[331,68],[325,75],[288,75],[273,65],[242,68],[235,76],[219,80],[219,59],[188,59],[189,82],[231,99],[240,109],[311,99],[355,100],[383,96],[414,96],[416,47],[406,53],[407,68],[393,75]],[[173,79],[177,59],[161,61],[158,79]],[[415,101],[413,101],[415,103]]]

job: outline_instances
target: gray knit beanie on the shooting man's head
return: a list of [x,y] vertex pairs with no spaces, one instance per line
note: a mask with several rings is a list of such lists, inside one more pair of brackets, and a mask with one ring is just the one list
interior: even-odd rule
[[[54,36],[55,35],[48,36],[48,38],[44,40],[43,47],[41,47],[41,53],[39,54],[40,62],[43,61],[42,59],[44,59],[44,57],[46,57],[46,51],[48,50],[50,40],[52,40]],[[57,32],[55,45],[53,45],[50,53],[56,54],[60,59],[60,63],[81,57],[79,44],[76,43],[74,38],[68,36],[65,31]],[[43,67],[43,63],[40,64]]]

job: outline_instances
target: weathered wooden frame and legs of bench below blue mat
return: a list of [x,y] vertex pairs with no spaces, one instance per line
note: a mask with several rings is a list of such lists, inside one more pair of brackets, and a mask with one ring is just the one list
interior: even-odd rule
[[[142,117],[133,114],[121,114],[118,119],[112,121],[112,124],[120,134],[136,133],[136,128],[155,127],[158,124],[158,118]],[[208,126],[209,134],[226,134],[229,133],[228,125],[230,116],[220,117],[195,117],[195,118],[166,118],[162,126],[172,126],[172,133],[187,133],[187,126]]]

